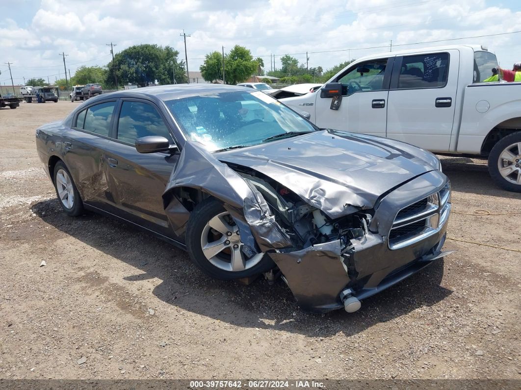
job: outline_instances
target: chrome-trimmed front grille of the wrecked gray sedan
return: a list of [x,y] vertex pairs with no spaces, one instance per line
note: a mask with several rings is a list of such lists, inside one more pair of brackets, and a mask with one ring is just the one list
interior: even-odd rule
[[389,231],[389,248],[400,249],[437,233],[449,218],[451,189],[440,191],[402,208]]

